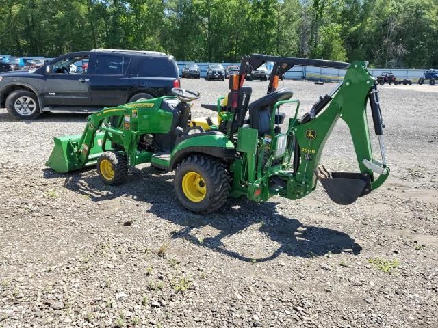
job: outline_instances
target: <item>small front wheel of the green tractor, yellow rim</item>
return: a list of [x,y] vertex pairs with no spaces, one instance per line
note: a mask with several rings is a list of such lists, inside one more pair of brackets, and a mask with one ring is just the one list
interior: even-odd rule
[[97,160],[97,173],[105,184],[123,184],[128,176],[128,162],[121,152],[104,152]]

